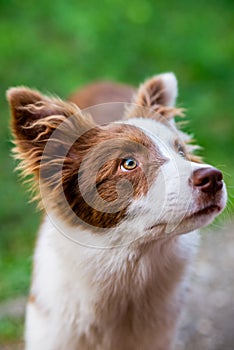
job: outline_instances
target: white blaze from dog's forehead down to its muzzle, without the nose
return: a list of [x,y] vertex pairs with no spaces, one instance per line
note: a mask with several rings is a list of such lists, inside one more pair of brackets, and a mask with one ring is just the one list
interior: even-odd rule
[[[176,153],[174,142],[178,135],[173,128],[149,119],[138,118],[128,122],[140,127],[167,159],[160,167],[156,181],[147,196],[140,200],[140,205],[147,208],[150,216],[147,221],[150,225],[165,223],[171,230],[181,221],[191,200],[191,191],[188,188],[188,177],[192,172],[191,163]],[[133,203],[135,210],[136,206],[137,203]]]

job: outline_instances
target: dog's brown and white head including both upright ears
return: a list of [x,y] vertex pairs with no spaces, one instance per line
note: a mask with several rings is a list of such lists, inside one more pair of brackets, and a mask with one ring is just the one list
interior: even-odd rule
[[95,235],[118,232],[122,243],[210,223],[225,207],[225,185],[176,129],[176,95],[173,74],[153,77],[122,120],[97,126],[71,103],[10,89],[17,157],[48,212]]

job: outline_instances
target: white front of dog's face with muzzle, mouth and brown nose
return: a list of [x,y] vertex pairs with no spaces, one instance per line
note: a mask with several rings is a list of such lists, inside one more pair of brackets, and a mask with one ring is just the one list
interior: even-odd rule
[[[208,225],[224,209],[222,173],[189,153],[183,135],[174,127],[134,119],[164,160],[147,194],[131,204],[129,216],[146,222],[146,231],[181,234]],[[143,214],[144,213],[144,214]],[[142,220],[142,215],[145,219]]]

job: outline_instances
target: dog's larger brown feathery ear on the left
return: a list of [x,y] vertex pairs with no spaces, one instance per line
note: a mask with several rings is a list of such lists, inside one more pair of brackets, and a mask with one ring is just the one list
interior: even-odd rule
[[[76,135],[78,137],[95,126],[91,117],[83,115],[75,104],[26,87],[9,89],[7,100],[12,113],[14,151],[16,158],[23,161],[21,168],[25,174],[38,173],[49,140],[51,145],[53,140],[56,158],[62,147],[68,149],[71,146],[69,142],[74,142]],[[53,134],[55,129],[56,134]]]

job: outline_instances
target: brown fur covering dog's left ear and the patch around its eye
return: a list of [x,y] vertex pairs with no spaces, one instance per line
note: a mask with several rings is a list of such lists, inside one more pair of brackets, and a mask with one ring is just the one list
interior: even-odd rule
[[[115,226],[125,216],[131,199],[147,193],[156,176],[155,170],[164,162],[152,142],[133,126],[95,127],[74,105],[54,98],[49,100],[37,92],[32,93],[30,100],[27,89],[16,99],[11,92],[10,101],[17,136],[15,151],[23,159],[21,169],[40,177],[40,190],[46,194],[42,197],[48,199],[49,205],[55,203],[53,207],[59,215],[71,224]],[[74,143],[70,144],[71,139]],[[106,161],[108,154],[111,158]],[[142,165],[123,173],[120,162],[130,156],[140,159]],[[78,182],[84,160],[84,171],[87,173],[89,169],[89,176],[80,176]],[[75,215],[70,215],[67,208]]]

